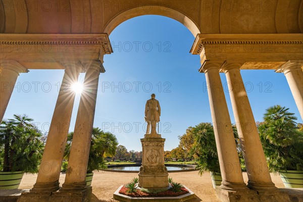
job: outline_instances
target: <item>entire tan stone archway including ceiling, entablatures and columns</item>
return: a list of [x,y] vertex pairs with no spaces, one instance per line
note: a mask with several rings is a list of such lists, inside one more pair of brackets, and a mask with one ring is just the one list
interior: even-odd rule
[[[74,194],[73,197],[80,200],[89,193],[83,182],[95,109],[96,84],[99,73],[105,72],[103,56],[113,52],[108,35],[127,19],[148,14],[162,15],[181,22],[196,36],[191,53],[200,55],[200,72],[206,74],[209,83],[212,120],[223,177],[221,188],[224,191],[245,189],[245,184],[241,172],[238,172],[233,134],[227,129],[231,123],[220,71],[226,74],[232,85],[240,84],[237,91],[230,90],[230,96],[233,113],[239,123],[238,132],[245,148],[247,165],[258,167],[261,163],[266,170],[266,160],[242,85],[240,69],[274,69],[283,72],[303,117],[303,1],[269,0],[241,4],[229,0],[134,0],[127,1],[126,4],[125,1],[70,0],[59,2],[59,5],[55,1],[45,0],[38,5],[35,2],[0,2],[1,80],[12,85],[1,92],[0,115],[3,117],[5,113],[12,93],[9,89],[14,86],[19,73],[27,72],[28,69],[65,69],[63,81],[74,82],[79,72],[86,72],[84,83],[90,86],[90,91],[87,92],[89,96],[81,96],[78,110],[73,143],[75,146],[71,151],[72,160],[69,165],[73,171],[68,173],[63,189],[54,194],[57,199],[76,191],[78,195]],[[45,4],[51,4],[51,7],[45,7]],[[28,51],[22,48],[23,45],[37,48]],[[46,51],[45,46],[51,48]],[[18,48],[18,51],[14,51],[14,48]],[[69,52],[65,52],[66,48]],[[67,97],[70,98],[69,102]],[[63,103],[65,108],[62,108]],[[72,105],[73,95],[61,90],[51,128],[58,123],[70,122]],[[251,131],[244,129],[245,123],[252,124]],[[82,132],[83,128],[86,128],[85,132]],[[54,166],[61,165],[63,157],[60,151],[66,135],[64,131],[49,133],[41,168],[45,162],[52,162]],[[84,154],[83,161],[77,160],[79,153]],[[225,167],[229,165],[234,165],[232,172],[225,172]],[[37,182],[30,193],[47,193],[41,197],[51,197],[51,192],[59,189],[59,175],[57,170],[45,173],[40,169]],[[248,176],[251,189],[276,191],[269,173],[251,171]]]

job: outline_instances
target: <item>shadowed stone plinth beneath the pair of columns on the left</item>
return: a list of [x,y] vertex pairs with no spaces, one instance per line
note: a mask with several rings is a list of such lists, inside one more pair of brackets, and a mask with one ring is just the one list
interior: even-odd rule
[[91,192],[91,186],[76,191],[25,192],[21,194],[18,202],[87,202],[91,200]]

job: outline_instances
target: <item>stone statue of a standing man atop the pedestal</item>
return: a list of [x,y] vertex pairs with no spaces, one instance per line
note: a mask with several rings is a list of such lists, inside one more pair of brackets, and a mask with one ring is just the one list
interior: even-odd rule
[[[151,94],[145,105],[145,121],[147,122],[146,134],[158,134],[156,131],[157,122],[160,121],[161,108],[159,101],[155,99],[156,95]],[[151,131],[150,130],[151,126]]]

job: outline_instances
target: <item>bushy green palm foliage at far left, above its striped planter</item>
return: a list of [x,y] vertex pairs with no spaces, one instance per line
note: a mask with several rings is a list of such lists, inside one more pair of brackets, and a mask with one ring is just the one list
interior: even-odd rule
[[27,115],[14,115],[14,119],[2,122],[0,127],[0,152],[5,172],[38,172],[44,144],[41,132],[31,124]]

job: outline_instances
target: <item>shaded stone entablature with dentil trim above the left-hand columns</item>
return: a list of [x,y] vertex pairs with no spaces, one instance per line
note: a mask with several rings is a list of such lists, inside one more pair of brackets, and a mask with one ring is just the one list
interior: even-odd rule
[[16,60],[27,69],[65,69],[65,61],[103,63],[113,52],[106,33],[0,34],[0,46],[0,60]]

